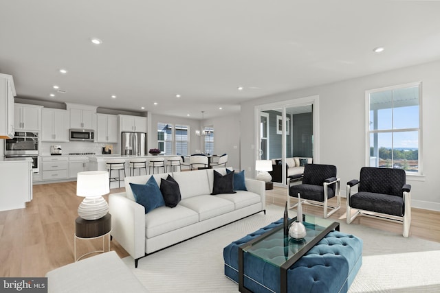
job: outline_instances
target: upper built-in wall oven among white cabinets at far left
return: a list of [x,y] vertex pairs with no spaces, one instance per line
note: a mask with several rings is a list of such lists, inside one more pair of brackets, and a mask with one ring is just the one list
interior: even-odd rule
[[5,139],[5,156],[38,154],[39,132],[17,131],[13,139]]

